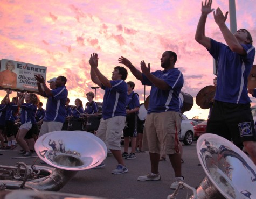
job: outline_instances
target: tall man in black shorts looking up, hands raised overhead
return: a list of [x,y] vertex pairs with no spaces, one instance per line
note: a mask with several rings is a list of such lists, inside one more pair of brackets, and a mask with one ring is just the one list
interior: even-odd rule
[[238,147],[244,145],[256,164],[256,133],[247,91],[248,75],[255,57],[252,37],[245,29],[232,34],[225,24],[228,12],[224,16],[220,8],[213,12],[213,17],[227,45],[206,37],[206,19],[214,10],[211,4],[211,0],[202,3],[195,35],[196,41],[217,61],[218,68],[215,102],[206,132],[232,140]]

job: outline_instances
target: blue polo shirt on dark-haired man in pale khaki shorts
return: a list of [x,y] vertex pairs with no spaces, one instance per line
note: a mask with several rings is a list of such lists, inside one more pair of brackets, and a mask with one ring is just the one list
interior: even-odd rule
[[111,88],[101,86],[105,90],[102,106],[103,119],[115,116],[126,116],[127,83],[123,80],[110,80]]

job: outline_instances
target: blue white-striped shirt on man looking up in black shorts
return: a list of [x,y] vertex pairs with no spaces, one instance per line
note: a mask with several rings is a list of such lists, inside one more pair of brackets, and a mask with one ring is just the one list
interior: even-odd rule
[[211,39],[212,57],[217,61],[218,78],[215,100],[236,104],[250,103],[247,91],[248,76],[255,56],[255,48],[251,44],[241,44],[246,55],[231,51],[229,46]]

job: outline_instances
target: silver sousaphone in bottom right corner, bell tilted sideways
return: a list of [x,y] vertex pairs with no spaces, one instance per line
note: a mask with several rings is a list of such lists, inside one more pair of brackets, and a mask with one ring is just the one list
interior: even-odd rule
[[[197,155],[206,177],[191,199],[256,198],[256,166],[236,145],[206,133],[197,140]],[[174,194],[168,198],[175,198]]]

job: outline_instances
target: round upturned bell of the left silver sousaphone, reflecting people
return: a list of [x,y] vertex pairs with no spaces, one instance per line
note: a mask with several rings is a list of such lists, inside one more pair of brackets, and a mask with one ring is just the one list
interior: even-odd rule
[[34,146],[38,157],[64,170],[98,166],[107,157],[107,146],[86,131],[53,131],[39,137]]

